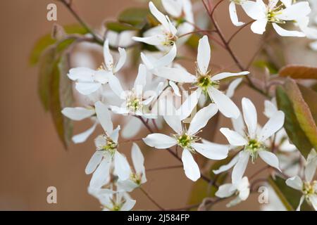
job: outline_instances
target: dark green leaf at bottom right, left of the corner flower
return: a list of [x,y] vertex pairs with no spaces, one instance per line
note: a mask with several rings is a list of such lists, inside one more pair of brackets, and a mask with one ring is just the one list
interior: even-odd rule
[[[269,177],[268,184],[272,186],[286,210],[293,211],[297,209],[299,200],[302,197],[302,193],[300,191],[287,186],[285,184],[285,179],[282,179],[280,176],[275,176],[275,178]],[[304,203],[301,210],[310,211],[312,208],[308,204]]]

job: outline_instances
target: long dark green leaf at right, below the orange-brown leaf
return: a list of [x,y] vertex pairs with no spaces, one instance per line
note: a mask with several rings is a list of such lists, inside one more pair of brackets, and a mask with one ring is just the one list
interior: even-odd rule
[[300,127],[292,107],[292,101],[290,101],[290,98],[282,86],[278,86],[276,89],[276,100],[278,102],[278,108],[285,113],[284,128],[287,136],[289,136],[292,143],[294,143],[297,149],[306,158],[313,146],[302,130],[302,127]]

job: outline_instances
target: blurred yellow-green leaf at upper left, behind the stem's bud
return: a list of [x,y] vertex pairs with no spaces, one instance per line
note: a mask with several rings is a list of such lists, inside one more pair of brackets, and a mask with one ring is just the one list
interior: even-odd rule
[[[85,28],[81,27],[80,25],[68,25],[64,27],[64,30],[68,34],[86,34],[87,31]],[[51,37],[51,34],[46,34],[43,37],[39,38],[35,45],[32,48],[30,53],[29,63],[30,65],[35,65],[39,62],[39,58],[42,55],[44,49],[48,46],[56,43],[56,40]]]

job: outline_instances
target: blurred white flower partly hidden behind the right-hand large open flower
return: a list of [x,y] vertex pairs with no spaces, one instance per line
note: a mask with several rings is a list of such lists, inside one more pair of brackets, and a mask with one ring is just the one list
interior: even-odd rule
[[[278,112],[278,108],[276,107],[275,98],[273,98],[272,101],[264,101],[264,115],[266,115],[266,117],[271,118],[276,112]],[[275,145],[278,146],[278,150],[282,152],[293,152],[297,150],[296,146],[290,143],[284,128],[276,132],[274,141]]]

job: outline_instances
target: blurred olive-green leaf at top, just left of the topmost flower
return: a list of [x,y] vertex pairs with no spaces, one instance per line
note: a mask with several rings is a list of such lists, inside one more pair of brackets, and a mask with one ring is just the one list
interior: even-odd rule
[[148,15],[149,10],[147,8],[127,8],[118,15],[118,21],[142,28],[147,23]]

